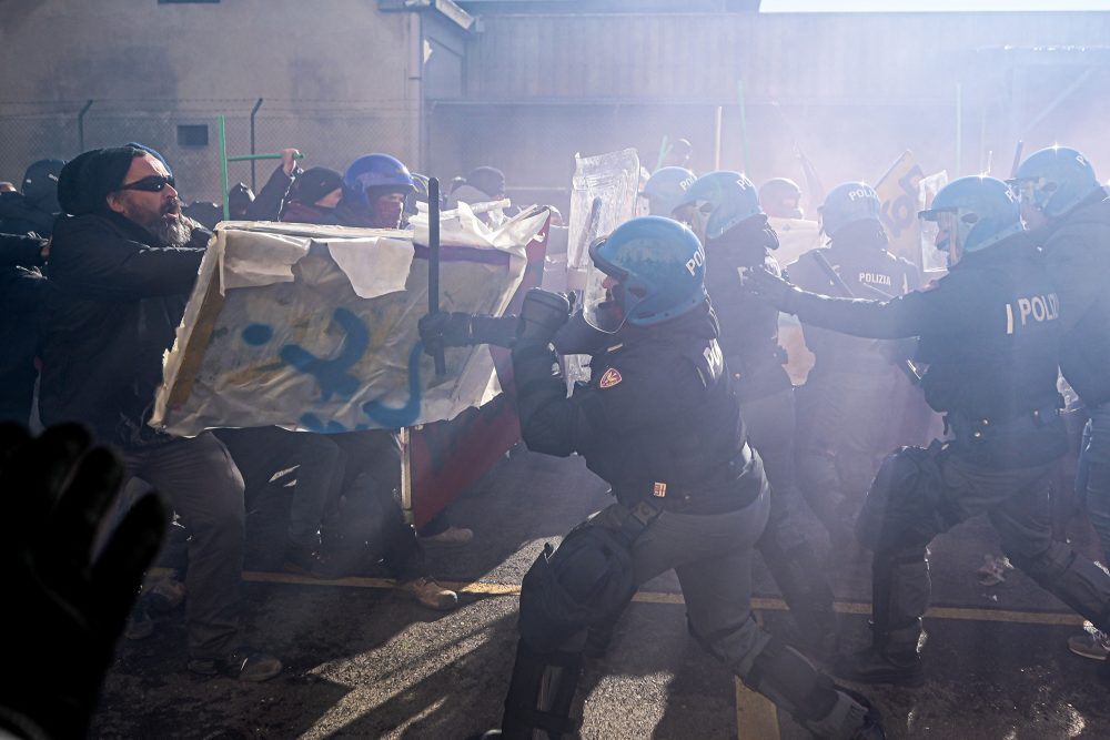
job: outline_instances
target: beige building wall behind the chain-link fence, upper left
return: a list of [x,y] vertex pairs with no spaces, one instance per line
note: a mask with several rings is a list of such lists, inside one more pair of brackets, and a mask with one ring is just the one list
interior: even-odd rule
[[[77,154],[88,100],[85,148],[155,146],[189,199],[219,195],[216,116],[229,152],[248,153],[260,98],[259,152],[297,146],[341,170],[371,151],[420,158],[413,13],[373,0],[9,0],[0,12],[0,179]],[[208,145],[179,145],[179,124],[208,125]],[[258,165],[260,186],[272,166]],[[231,178],[250,182],[250,166]]]

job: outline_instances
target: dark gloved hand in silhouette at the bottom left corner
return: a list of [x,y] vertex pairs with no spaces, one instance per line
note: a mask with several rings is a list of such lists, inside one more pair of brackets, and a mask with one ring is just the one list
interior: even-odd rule
[[[0,425],[0,721],[18,732],[80,738],[115,641],[162,541],[168,511],[148,494],[93,559],[123,465],[77,425],[31,439]],[[33,726],[38,726],[34,728]]]

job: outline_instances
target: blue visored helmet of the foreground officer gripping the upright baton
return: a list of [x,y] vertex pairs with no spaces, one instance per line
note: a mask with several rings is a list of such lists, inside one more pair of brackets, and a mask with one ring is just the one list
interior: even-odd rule
[[[586,320],[603,331],[615,332],[624,322],[652,326],[706,300],[705,250],[694,232],[672,219],[626,221],[591,244],[589,257],[612,278],[606,281],[612,300],[584,306]],[[607,311],[612,304],[616,312]]]

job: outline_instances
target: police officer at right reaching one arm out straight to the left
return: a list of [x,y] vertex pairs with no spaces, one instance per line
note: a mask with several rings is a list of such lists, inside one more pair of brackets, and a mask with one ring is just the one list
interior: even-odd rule
[[829,297],[769,273],[753,290],[803,323],[856,336],[919,336],[925,398],[950,438],[902,447],[884,462],[856,523],[874,551],[871,643],[834,673],[864,683],[920,686],[929,543],[987,514],[1018,568],[1106,629],[1110,576],[1052,538],[1048,488],[1067,450],[1059,416],[1061,306],[1006,183],[961,178],[922,219],[937,223],[948,274],[889,301]]

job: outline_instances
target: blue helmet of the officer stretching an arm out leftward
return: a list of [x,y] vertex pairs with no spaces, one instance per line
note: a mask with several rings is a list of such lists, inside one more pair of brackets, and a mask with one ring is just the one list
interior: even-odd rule
[[1010,190],[1001,180],[982,175],[948,183],[918,214],[936,222],[937,249],[955,265],[970,252],[979,252],[1020,233],[1021,215]]

